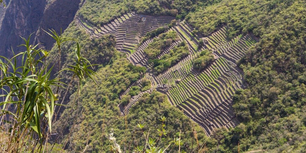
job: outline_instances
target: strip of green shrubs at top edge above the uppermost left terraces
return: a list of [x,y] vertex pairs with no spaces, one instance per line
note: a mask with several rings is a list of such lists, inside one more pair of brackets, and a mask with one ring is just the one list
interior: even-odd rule
[[177,16],[177,19],[184,19],[188,11],[216,2],[220,0],[88,0],[78,14],[95,25],[108,23],[115,17],[130,11],[149,15]]

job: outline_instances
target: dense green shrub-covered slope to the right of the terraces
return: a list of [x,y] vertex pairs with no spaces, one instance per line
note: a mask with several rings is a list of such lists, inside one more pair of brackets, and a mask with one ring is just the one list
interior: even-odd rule
[[301,0],[222,1],[188,15],[204,35],[227,25],[229,37],[240,32],[260,37],[240,61],[250,84],[233,98],[243,123],[213,136],[221,136],[223,151],[237,150],[238,142],[243,151],[305,149],[305,8]]

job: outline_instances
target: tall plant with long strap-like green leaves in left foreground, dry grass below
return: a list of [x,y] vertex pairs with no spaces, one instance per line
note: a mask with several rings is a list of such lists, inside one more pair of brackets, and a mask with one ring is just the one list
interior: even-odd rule
[[[62,38],[55,31],[51,32]],[[24,44],[20,47],[25,47],[24,52],[11,59],[0,58],[0,132],[1,141],[5,142],[0,144],[1,152],[41,151],[43,142],[52,131],[55,105],[62,106],[57,102],[62,100],[63,103],[65,98],[58,99],[57,91],[54,92],[55,88],[65,88],[67,85],[59,77],[51,79],[53,66],[45,63],[49,52],[38,48],[39,44],[30,45],[30,37],[22,38]],[[59,48],[61,43],[57,44]],[[90,62],[81,56],[81,47],[76,43],[75,65],[69,65],[72,69],[60,69],[58,73],[73,71],[73,77],[79,78],[79,84],[82,84],[86,77],[93,79],[95,72],[90,69]]]

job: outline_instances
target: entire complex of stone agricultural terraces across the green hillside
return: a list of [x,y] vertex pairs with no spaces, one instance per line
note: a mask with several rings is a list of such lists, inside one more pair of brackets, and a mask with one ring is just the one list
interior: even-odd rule
[[[236,126],[239,121],[233,113],[232,96],[237,89],[247,86],[236,62],[245,55],[246,50],[257,42],[257,39],[252,34],[248,34],[238,35],[228,40],[226,26],[205,38],[199,38],[192,33],[192,27],[185,21],[178,22],[176,26],[166,31],[175,32],[178,39],[160,50],[155,58],[160,59],[169,54],[183,41],[188,45],[188,55],[155,75],[153,64],[149,62],[149,57],[144,50],[159,37],[148,39],[138,47],[136,44],[147,32],[169,23],[172,19],[173,17],[152,17],[129,13],[103,25],[104,28],[100,30],[79,18],[76,21],[93,38],[108,33],[114,34],[117,39],[117,50],[127,53],[127,58],[132,64],[147,68],[144,78],[151,81],[152,88],[131,97],[129,103],[119,105],[122,115],[129,113],[129,108],[138,101],[141,95],[156,89],[166,94],[173,106],[182,110],[185,115],[202,126],[207,135],[210,135],[215,128]],[[204,45],[198,48],[200,39],[204,40]],[[199,72],[193,69],[192,63],[199,52],[205,49],[214,54],[215,60],[205,70]],[[132,84],[131,87],[139,86],[142,79]],[[119,96],[127,95],[129,90],[130,88],[122,91]]]

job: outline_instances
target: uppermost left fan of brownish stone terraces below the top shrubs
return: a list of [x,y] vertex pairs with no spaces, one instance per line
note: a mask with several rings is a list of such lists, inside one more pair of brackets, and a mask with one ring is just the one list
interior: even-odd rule
[[76,23],[85,28],[92,37],[100,37],[104,34],[113,34],[116,36],[116,49],[128,54],[136,51],[136,45],[139,39],[159,27],[170,23],[174,17],[170,16],[148,16],[135,13],[124,14],[121,17],[96,27],[80,18],[76,18]]

